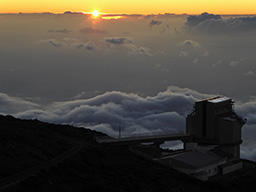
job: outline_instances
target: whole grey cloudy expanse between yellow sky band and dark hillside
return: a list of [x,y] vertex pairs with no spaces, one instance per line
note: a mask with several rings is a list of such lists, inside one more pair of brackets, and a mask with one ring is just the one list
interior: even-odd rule
[[0,114],[179,132],[195,101],[223,95],[247,119],[241,156],[256,160],[255,16],[0,14],[0,29]]

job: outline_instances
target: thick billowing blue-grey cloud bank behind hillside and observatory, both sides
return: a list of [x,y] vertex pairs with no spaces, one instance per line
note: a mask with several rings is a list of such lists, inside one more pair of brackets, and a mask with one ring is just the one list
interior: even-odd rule
[[[60,124],[83,126],[118,136],[122,135],[179,132],[185,130],[186,116],[195,101],[213,95],[202,94],[188,88],[171,86],[155,96],[118,91],[106,92],[89,99],[55,102],[48,106],[24,101],[20,98],[0,94],[2,114]],[[256,99],[236,104],[238,115],[247,118],[243,128],[243,158],[256,160],[254,137],[256,134]]]

